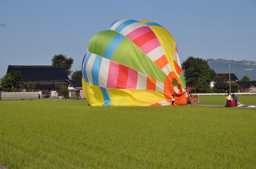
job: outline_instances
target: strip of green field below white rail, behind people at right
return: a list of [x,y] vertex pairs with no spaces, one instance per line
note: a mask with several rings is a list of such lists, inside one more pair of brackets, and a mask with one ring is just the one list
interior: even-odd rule
[[[256,95],[237,95],[239,98],[239,103],[246,105],[256,106]],[[210,104],[210,105],[225,105],[226,96],[213,95],[213,96],[199,96],[200,104]]]

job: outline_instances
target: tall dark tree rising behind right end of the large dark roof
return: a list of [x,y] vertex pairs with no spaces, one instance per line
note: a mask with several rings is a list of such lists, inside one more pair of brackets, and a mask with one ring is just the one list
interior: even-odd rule
[[73,65],[74,59],[72,57],[68,58],[67,55],[57,54],[52,57],[53,66],[62,66],[69,76],[72,72],[71,67]]

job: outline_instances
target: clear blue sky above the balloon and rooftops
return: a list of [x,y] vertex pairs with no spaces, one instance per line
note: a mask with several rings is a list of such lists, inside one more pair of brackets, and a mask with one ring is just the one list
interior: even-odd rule
[[0,0],[0,78],[8,65],[51,65],[59,53],[78,70],[91,37],[122,18],[164,26],[181,62],[256,61],[256,0]]

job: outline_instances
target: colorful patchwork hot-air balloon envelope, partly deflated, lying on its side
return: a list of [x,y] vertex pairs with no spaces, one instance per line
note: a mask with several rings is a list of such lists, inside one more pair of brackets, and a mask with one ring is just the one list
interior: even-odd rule
[[175,41],[152,21],[122,19],[89,42],[82,65],[91,106],[187,104]]

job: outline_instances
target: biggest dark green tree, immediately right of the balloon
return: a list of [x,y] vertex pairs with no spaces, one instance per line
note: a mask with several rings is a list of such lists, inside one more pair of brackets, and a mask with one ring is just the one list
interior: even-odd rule
[[182,65],[184,77],[188,86],[196,87],[198,92],[209,92],[209,81],[216,73],[204,59],[189,56]]

